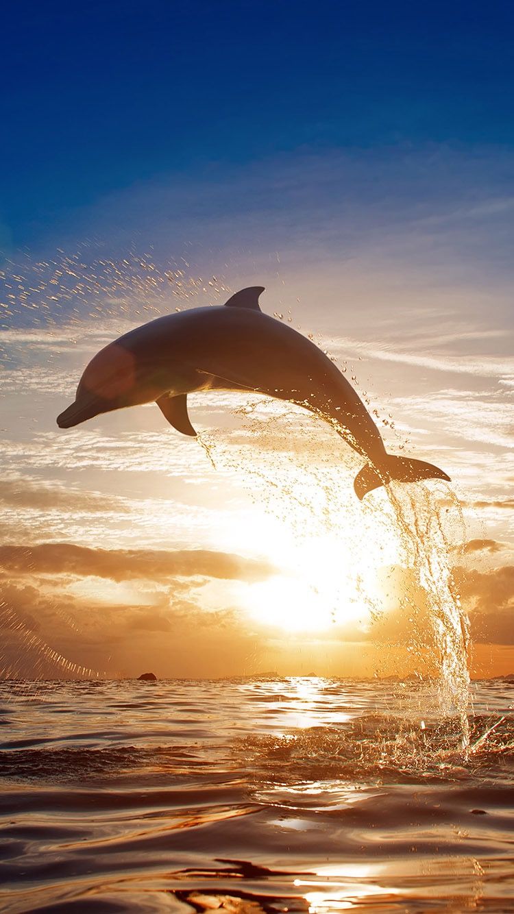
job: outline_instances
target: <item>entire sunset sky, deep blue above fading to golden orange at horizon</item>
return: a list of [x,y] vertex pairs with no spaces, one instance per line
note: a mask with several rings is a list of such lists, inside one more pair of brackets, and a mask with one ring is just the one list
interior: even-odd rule
[[[513,19],[4,12],[0,675],[431,673],[456,594],[472,675],[514,672]],[[301,409],[197,394],[199,441],[154,405],[57,428],[103,345],[253,284],[391,452],[452,477],[395,489],[421,558]]]

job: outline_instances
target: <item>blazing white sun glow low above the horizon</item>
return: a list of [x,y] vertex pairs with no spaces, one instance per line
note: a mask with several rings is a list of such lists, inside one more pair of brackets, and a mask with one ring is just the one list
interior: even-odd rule
[[266,547],[276,572],[246,585],[243,606],[256,622],[285,632],[366,628],[383,602],[379,569],[399,558],[397,537],[376,515],[352,515],[337,501],[331,515],[296,517],[289,503],[280,518],[254,512],[248,537]]

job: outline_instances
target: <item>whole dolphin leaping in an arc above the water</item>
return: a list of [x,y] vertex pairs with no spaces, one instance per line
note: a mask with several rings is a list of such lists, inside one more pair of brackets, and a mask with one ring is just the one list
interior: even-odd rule
[[80,378],[75,402],[60,413],[59,428],[155,400],[175,429],[196,435],[188,393],[253,391],[289,400],[333,425],[367,461],[354,482],[360,499],[391,480],[449,480],[432,463],[388,454],[346,377],[304,335],[262,314],[261,292],[253,286],[224,305],[158,317],[105,346]]

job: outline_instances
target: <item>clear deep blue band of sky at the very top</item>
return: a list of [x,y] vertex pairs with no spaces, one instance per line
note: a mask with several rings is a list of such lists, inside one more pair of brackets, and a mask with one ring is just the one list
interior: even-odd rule
[[509,149],[513,18],[507,3],[8,5],[4,246],[41,246],[156,176],[216,181],[334,149]]

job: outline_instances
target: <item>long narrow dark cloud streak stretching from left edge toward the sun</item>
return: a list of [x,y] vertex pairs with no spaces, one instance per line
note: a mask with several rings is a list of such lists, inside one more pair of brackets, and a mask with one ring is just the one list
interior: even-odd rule
[[269,562],[206,549],[91,549],[70,543],[0,547],[0,569],[18,575],[94,576],[114,581],[175,577],[262,580]]

